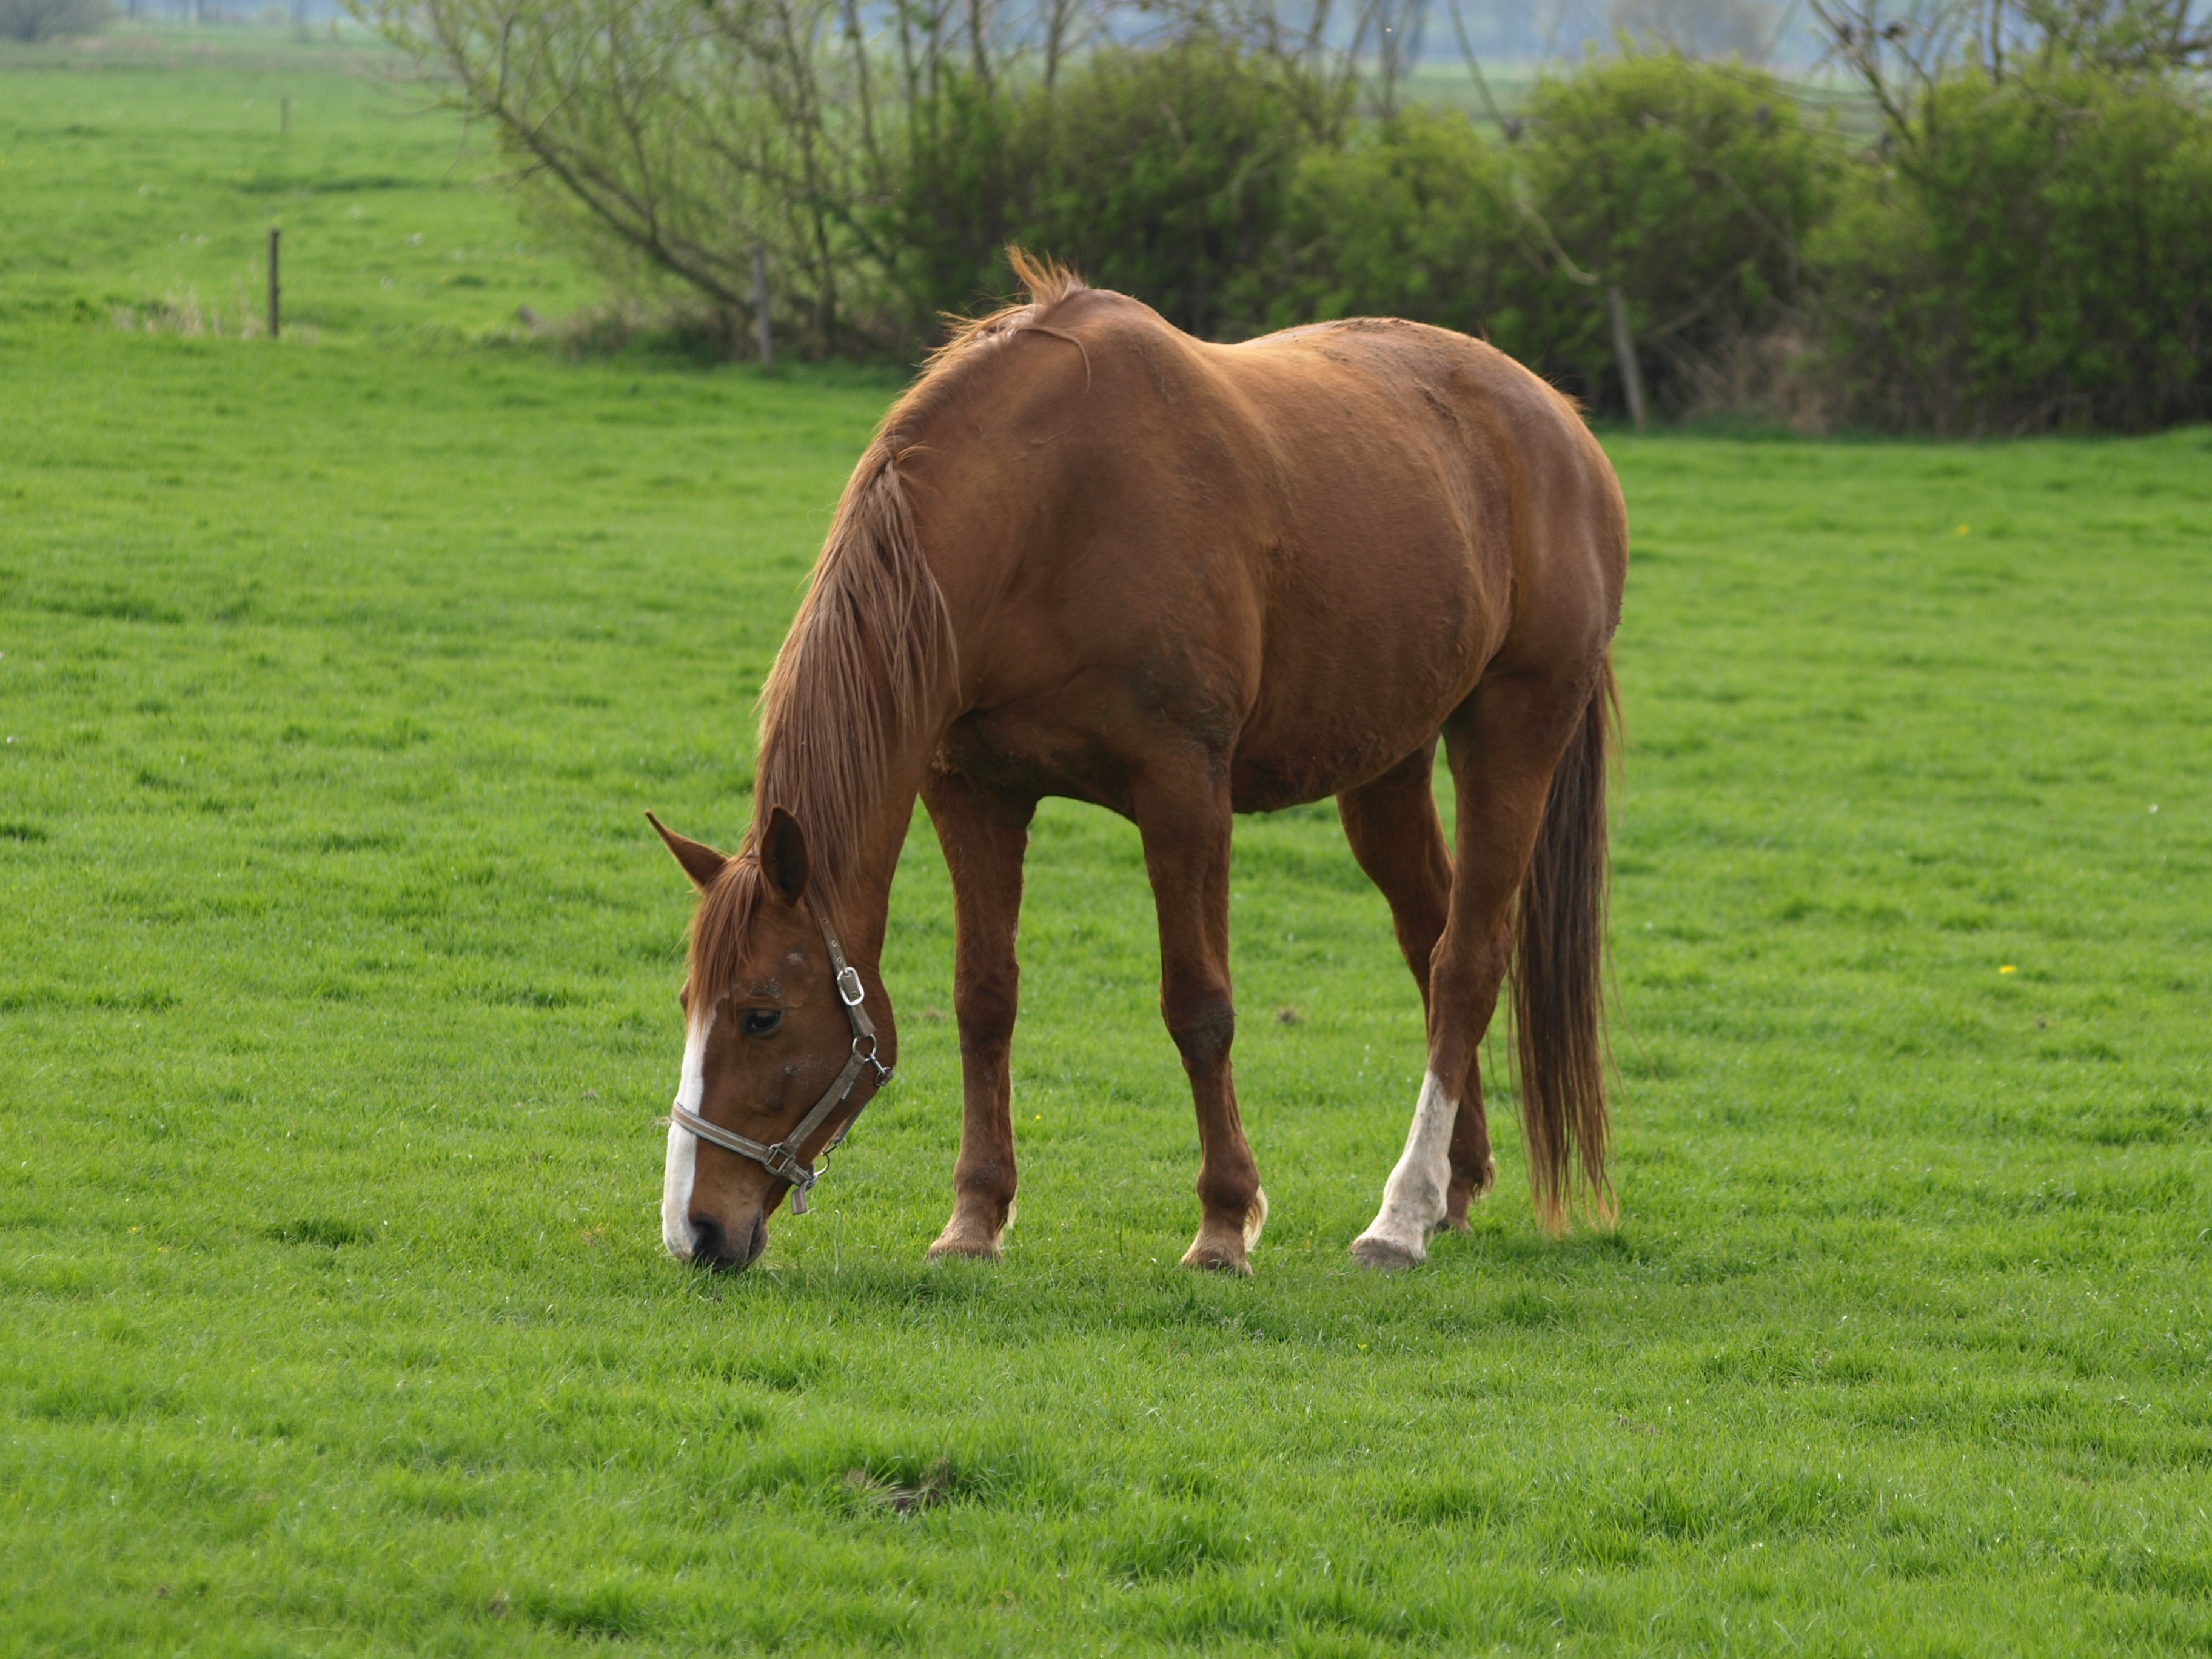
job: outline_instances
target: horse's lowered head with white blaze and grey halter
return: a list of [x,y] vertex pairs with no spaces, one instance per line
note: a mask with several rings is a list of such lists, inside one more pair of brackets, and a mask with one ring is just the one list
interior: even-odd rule
[[805,1214],[816,1159],[889,1082],[869,1002],[885,1024],[889,1009],[845,960],[790,812],[772,807],[737,856],[653,827],[699,889],[661,1243],[679,1261],[750,1267],[768,1217],[785,1194]]

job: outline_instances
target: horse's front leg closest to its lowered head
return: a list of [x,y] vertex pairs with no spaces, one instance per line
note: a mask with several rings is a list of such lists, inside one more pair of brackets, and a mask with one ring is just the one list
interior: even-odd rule
[[1022,969],[1022,856],[1035,801],[984,790],[958,772],[929,772],[922,805],[953,878],[953,1018],[960,1022],[960,1157],[953,1214],[929,1259],[998,1261],[1013,1221],[1013,1020]]

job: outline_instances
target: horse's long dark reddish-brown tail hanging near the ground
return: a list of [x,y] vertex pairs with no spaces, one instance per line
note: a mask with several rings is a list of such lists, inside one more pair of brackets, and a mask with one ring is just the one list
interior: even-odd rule
[[[1606,761],[1619,688],[1606,659],[1582,730],[1551,774],[1544,827],[1513,927],[1513,1022],[1520,1046],[1522,1139],[1537,1221],[1566,1232],[1575,1199],[1595,1221],[1615,1217],[1606,1181]],[[1582,1164],[1582,1181],[1573,1164]],[[1577,1190],[1579,1186],[1579,1190]]]

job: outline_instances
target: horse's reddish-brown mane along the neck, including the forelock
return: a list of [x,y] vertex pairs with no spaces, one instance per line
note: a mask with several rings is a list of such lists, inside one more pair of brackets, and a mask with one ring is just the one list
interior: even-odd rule
[[748,854],[757,852],[768,807],[799,818],[814,854],[814,885],[836,909],[894,743],[914,734],[929,695],[958,679],[951,611],[922,553],[898,462],[989,347],[1040,327],[1048,310],[1084,288],[1057,261],[1040,263],[1020,248],[1009,248],[1006,259],[1029,299],[989,316],[947,319],[945,345],[891,405],[845,482],[805,599],[761,688],[752,827],[692,918],[697,998],[721,995],[743,958],[761,905],[759,858]]

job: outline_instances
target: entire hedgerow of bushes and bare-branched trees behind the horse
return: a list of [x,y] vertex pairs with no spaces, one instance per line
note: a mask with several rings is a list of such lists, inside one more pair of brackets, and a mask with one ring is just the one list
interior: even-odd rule
[[1871,146],[1770,73],[1626,38],[1491,133],[1394,106],[1356,40],[1285,44],[1265,7],[1086,44],[1026,2],[883,38],[834,0],[376,15],[502,133],[542,223],[690,294],[710,338],[765,301],[803,356],[911,361],[1009,292],[1020,243],[1208,338],[1482,334],[1601,411],[1648,387],[1663,416],[1953,434],[2212,414],[2205,44],[2112,22],[2161,0],[2051,13],[1989,64],[1823,0]]

